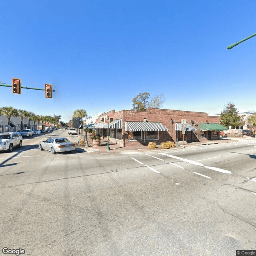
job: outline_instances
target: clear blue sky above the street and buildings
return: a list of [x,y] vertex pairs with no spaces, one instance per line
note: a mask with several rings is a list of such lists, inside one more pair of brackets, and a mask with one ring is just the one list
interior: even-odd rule
[[88,116],[132,108],[140,92],[163,108],[214,115],[233,102],[256,110],[256,2],[0,0],[0,106],[39,115]]

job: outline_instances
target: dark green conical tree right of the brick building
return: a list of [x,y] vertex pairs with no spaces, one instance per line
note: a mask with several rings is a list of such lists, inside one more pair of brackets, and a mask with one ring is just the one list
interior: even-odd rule
[[232,128],[240,126],[242,118],[238,116],[237,113],[238,111],[235,108],[235,105],[228,102],[220,114],[220,124],[226,128],[228,128],[228,126],[232,126]]

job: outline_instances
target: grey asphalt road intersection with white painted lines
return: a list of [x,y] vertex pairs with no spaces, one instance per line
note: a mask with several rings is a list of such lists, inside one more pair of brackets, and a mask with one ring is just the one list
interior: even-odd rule
[[[140,154],[0,153],[0,245],[24,255],[256,250],[256,141]],[[73,140],[75,141],[75,140]]]

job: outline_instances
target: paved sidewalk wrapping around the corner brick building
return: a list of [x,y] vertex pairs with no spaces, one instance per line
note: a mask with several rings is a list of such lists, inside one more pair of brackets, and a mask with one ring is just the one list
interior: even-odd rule
[[[185,145],[180,145],[175,148],[170,148],[168,150],[177,150],[182,149],[190,146],[208,146],[210,144],[220,144],[220,143],[229,143],[229,142],[237,142],[236,138],[232,138],[230,141],[229,139],[220,139],[220,140],[209,140],[207,142],[191,142]],[[109,143],[110,150],[107,149],[107,140],[106,138],[101,140],[100,146],[93,146],[91,138],[88,136],[88,145],[89,147],[86,147],[85,145],[76,145],[77,150],[82,149],[85,150],[85,152],[88,153],[104,153],[104,154],[138,154],[140,152],[157,152],[157,151],[164,151],[166,149],[161,148],[161,144],[156,145],[157,148],[150,149],[148,146],[140,145],[140,146],[126,146],[126,147],[120,147],[117,144]]]

